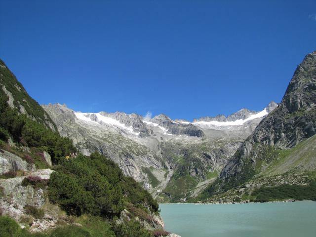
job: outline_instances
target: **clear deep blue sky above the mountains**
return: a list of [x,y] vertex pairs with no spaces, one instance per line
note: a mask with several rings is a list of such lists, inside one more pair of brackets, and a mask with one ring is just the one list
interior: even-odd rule
[[0,58],[82,112],[261,110],[314,50],[315,0],[0,0]]

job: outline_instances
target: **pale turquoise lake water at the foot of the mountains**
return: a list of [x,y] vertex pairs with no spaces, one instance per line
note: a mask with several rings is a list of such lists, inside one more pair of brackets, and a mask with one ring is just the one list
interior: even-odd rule
[[316,202],[160,204],[165,230],[181,237],[316,237]]

